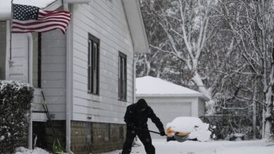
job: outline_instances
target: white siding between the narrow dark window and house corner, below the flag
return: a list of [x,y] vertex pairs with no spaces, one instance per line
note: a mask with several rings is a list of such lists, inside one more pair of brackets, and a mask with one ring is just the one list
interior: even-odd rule
[[60,30],[41,34],[41,89],[50,114],[55,116],[53,120],[65,120],[65,45],[65,35]]

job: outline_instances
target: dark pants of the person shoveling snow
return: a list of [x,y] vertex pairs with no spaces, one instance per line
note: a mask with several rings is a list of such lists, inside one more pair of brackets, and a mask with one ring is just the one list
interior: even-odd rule
[[147,154],[155,154],[155,148],[152,145],[150,132],[144,130],[126,130],[126,141],[124,142],[122,154],[131,153],[132,142],[136,135],[145,146],[145,152]]

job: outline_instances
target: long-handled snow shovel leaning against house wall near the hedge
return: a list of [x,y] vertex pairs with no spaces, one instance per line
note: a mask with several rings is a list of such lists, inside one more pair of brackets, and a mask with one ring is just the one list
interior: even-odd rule
[[54,136],[54,141],[53,141],[53,152],[54,153],[65,153],[65,150],[64,148],[61,146],[60,144],[60,141],[58,140],[57,136],[56,136],[56,132],[54,131],[53,129],[53,126],[51,124],[51,116],[49,115],[49,112],[48,112],[48,106],[46,105],[46,99],[44,97],[44,92],[41,91],[41,94],[42,94],[42,97],[43,97],[43,102],[41,103],[45,112],[46,112],[46,117],[48,118],[48,123],[49,123],[49,126],[51,127],[51,130],[52,130],[52,133],[53,133],[53,136]]

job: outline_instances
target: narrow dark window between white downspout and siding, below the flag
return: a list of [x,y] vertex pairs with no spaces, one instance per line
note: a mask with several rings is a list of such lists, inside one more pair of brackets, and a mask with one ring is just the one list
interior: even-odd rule
[[33,63],[32,63],[32,84],[34,87],[41,87],[41,33],[32,33],[33,37]]

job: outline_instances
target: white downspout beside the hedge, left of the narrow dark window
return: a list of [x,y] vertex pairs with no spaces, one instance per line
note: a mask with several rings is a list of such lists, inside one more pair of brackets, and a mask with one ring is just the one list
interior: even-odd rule
[[[28,83],[32,85],[32,57],[33,57],[33,38],[31,33],[27,33],[27,42],[28,42]],[[28,144],[29,149],[32,149],[32,106],[30,107],[30,124],[29,124],[29,137],[28,137]]]

